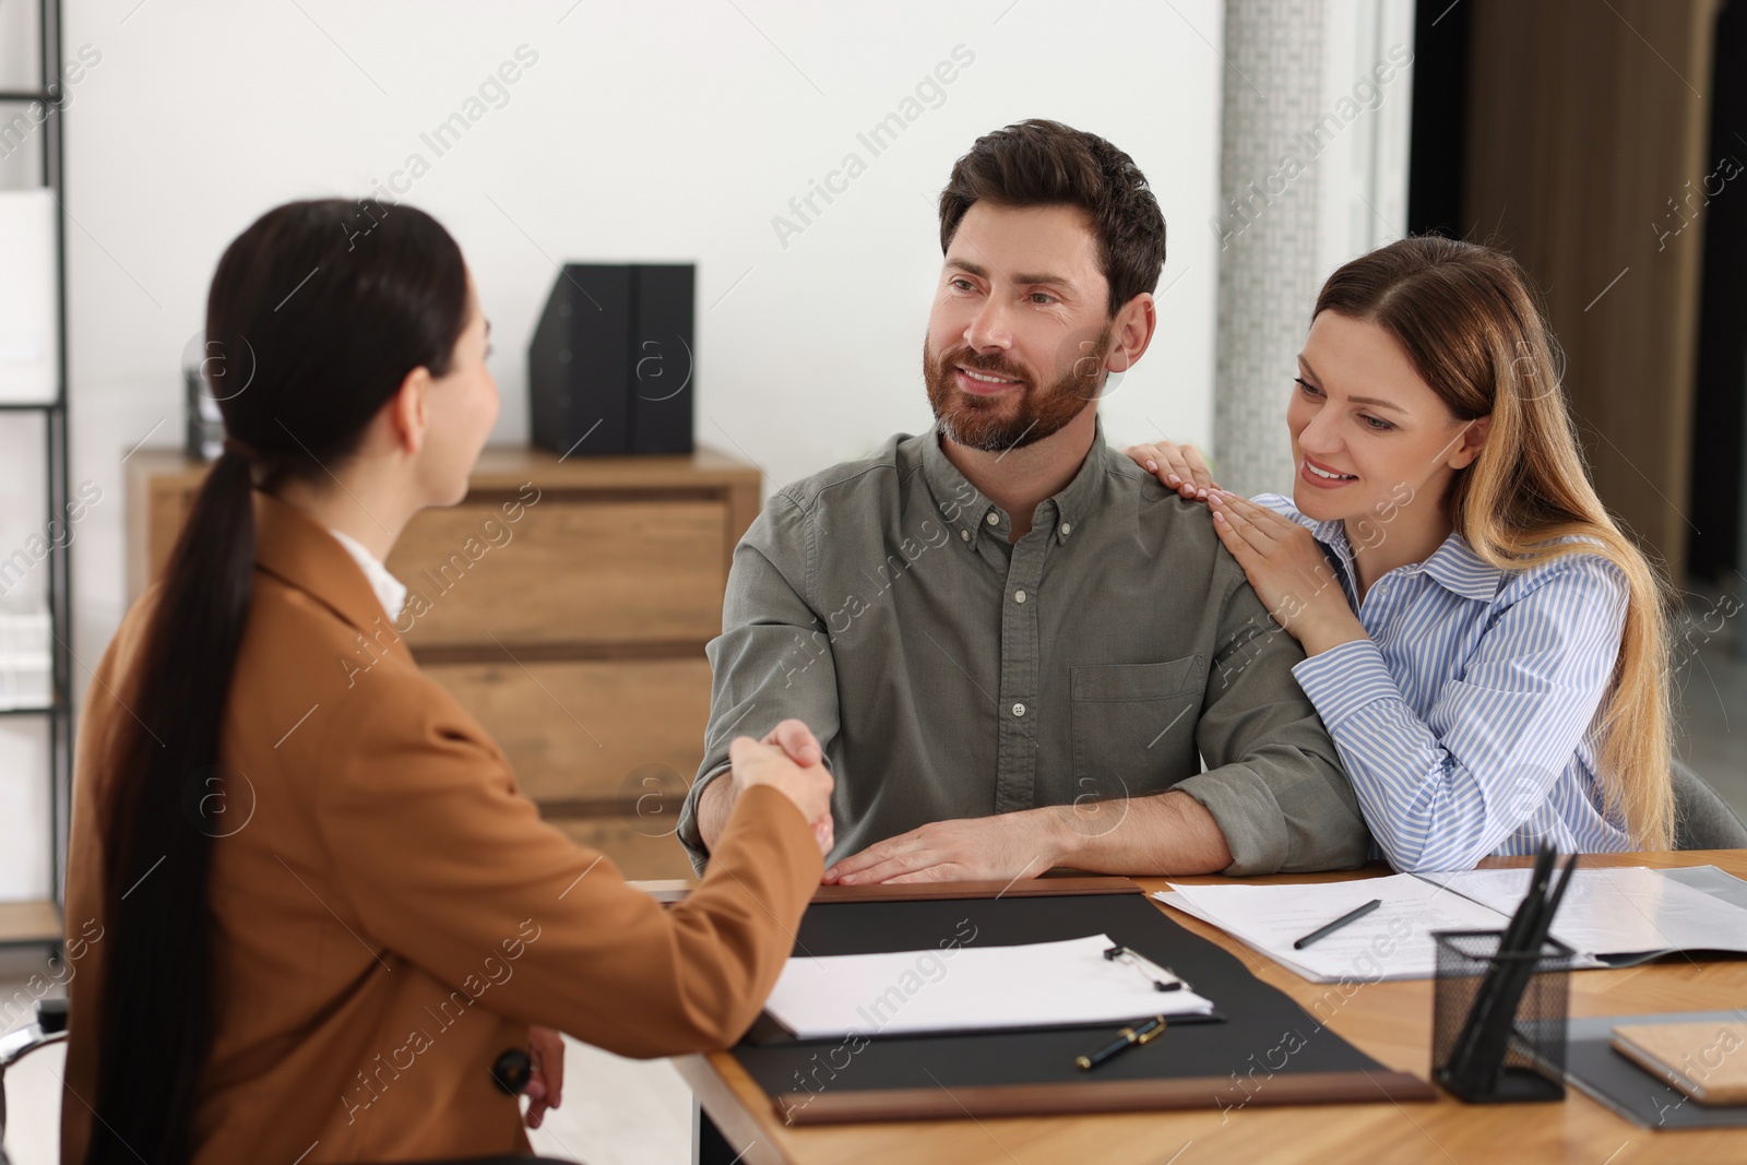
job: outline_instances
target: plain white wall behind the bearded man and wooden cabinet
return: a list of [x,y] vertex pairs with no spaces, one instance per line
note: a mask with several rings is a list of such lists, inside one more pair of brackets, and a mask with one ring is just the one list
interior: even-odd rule
[[[182,353],[220,252],[269,206],[363,194],[411,154],[430,171],[405,201],[459,239],[493,321],[494,442],[526,438],[528,335],[556,262],[695,260],[697,438],[774,487],[929,423],[919,351],[954,159],[1024,117],[1101,133],[1170,224],[1160,334],[1106,402],[1108,431],[1211,435],[1216,0],[136,3],[70,0],[65,17],[68,54],[101,54],[68,114],[73,484],[103,491],[73,559],[89,665],[122,615],[121,458],[180,442]],[[421,134],[519,45],[538,61],[438,157]],[[856,134],[957,45],[973,63],[874,157]],[[783,246],[772,217],[849,152],[867,173]],[[3,508],[26,515],[30,445],[0,430]],[[0,898],[47,889],[33,779],[0,767]]]

